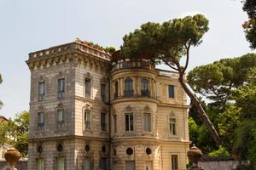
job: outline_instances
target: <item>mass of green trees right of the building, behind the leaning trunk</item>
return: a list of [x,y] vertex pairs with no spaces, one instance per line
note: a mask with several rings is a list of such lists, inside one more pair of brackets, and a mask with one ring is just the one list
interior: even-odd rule
[[[221,59],[210,65],[196,67],[189,72],[188,79],[190,86],[197,93],[213,100],[213,103],[205,106],[205,110],[213,124],[218,127],[224,149],[214,150],[210,155],[220,153],[225,155],[232,152],[239,156],[241,161],[255,162],[256,54]],[[193,106],[191,109],[194,111]],[[193,116],[189,113],[189,116],[191,115]],[[193,118],[201,119],[196,116]],[[195,122],[199,121],[195,120]],[[195,140],[197,145],[205,152],[212,151],[214,144],[211,144],[210,138],[207,139],[209,132],[203,130],[201,124],[193,127],[192,133],[196,132],[193,136],[197,137]],[[207,141],[206,144],[203,143],[204,141]],[[244,168],[251,167],[252,165]]]

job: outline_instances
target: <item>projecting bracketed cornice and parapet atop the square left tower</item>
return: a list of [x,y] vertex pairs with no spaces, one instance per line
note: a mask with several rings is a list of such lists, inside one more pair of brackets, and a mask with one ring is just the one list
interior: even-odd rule
[[96,71],[106,71],[110,67],[110,54],[81,42],[71,42],[33,52],[29,54],[26,64],[31,71],[62,64],[90,66],[90,69],[94,68]]

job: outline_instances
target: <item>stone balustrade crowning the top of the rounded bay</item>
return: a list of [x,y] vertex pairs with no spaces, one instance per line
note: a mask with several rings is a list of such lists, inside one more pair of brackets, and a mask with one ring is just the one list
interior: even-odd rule
[[129,68],[143,68],[154,70],[154,65],[151,63],[143,62],[143,61],[125,61],[121,63],[117,63],[113,65],[112,71],[118,71],[121,69],[129,69]]

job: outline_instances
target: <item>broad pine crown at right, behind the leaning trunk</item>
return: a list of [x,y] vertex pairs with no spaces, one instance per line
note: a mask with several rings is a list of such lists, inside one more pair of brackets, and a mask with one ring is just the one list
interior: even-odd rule
[[188,81],[196,93],[224,106],[232,91],[249,82],[256,67],[256,54],[235,59],[220,59],[189,71]]

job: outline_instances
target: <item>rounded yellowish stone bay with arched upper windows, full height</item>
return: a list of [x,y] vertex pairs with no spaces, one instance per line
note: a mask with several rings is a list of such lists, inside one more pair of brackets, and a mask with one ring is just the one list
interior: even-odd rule
[[[111,71],[113,169],[150,169],[160,161],[154,65],[114,60]],[[147,168],[148,167],[148,168]]]

